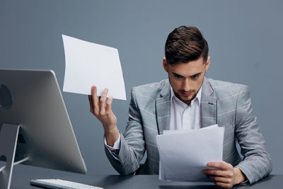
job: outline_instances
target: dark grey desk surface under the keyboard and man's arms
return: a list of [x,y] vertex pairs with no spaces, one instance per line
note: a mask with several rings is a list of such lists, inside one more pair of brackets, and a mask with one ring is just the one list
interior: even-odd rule
[[[15,166],[16,167],[16,166]],[[43,170],[43,171],[42,171]],[[183,182],[166,182],[158,181],[157,175],[149,176],[119,176],[119,175],[82,175],[76,173],[69,173],[64,171],[53,171],[50,169],[42,169],[41,171],[33,171],[33,168],[15,168],[13,172],[13,177],[11,181],[11,189],[23,189],[37,187],[30,185],[31,179],[36,178],[60,178],[67,181],[74,181],[78,183],[86,183],[88,185],[96,185],[108,188],[159,188],[159,189],[183,189],[183,188],[220,188],[216,185],[193,185],[192,183]],[[262,181],[255,183],[251,186],[237,185],[233,188],[248,188],[248,189],[266,189],[266,188],[282,188],[283,175],[271,175],[264,178]],[[39,188],[37,188],[39,189]]]

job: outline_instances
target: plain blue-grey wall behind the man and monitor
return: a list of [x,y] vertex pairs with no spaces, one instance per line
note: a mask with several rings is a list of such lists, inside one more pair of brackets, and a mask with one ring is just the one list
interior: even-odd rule
[[[272,155],[272,173],[282,174],[282,8],[279,0],[0,0],[0,68],[53,69],[62,89],[62,34],[116,47],[127,101],[115,100],[112,108],[123,132],[132,86],[167,78],[162,57],[168,33],[180,25],[196,25],[209,43],[207,76],[250,87]],[[89,112],[87,96],[63,96],[88,174],[116,174],[104,153],[103,127]],[[23,172],[35,170],[22,167]]]

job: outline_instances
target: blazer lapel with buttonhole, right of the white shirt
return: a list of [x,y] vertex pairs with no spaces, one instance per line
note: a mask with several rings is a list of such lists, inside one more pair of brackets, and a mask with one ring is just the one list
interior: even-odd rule
[[200,103],[201,127],[214,125],[217,122],[217,99],[213,97],[214,90],[207,78],[202,84],[202,99]]

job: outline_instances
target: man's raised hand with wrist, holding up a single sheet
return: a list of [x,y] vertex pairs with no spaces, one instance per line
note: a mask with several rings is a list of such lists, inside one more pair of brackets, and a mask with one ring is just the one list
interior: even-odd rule
[[105,103],[107,93],[108,89],[105,88],[102,96],[99,97],[98,100],[96,86],[92,86],[91,95],[88,96],[88,101],[91,105],[91,113],[93,113],[103,125],[107,144],[110,147],[113,147],[114,142],[119,137],[119,131],[117,129],[117,118],[111,108],[113,97],[110,96],[107,103]]

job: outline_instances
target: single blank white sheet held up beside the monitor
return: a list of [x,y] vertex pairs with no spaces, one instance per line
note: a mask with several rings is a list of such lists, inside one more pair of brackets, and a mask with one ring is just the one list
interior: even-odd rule
[[126,100],[125,83],[118,50],[62,35],[65,52],[63,91],[90,95],[96,86],[98,96],[108,88],[108,96]]

